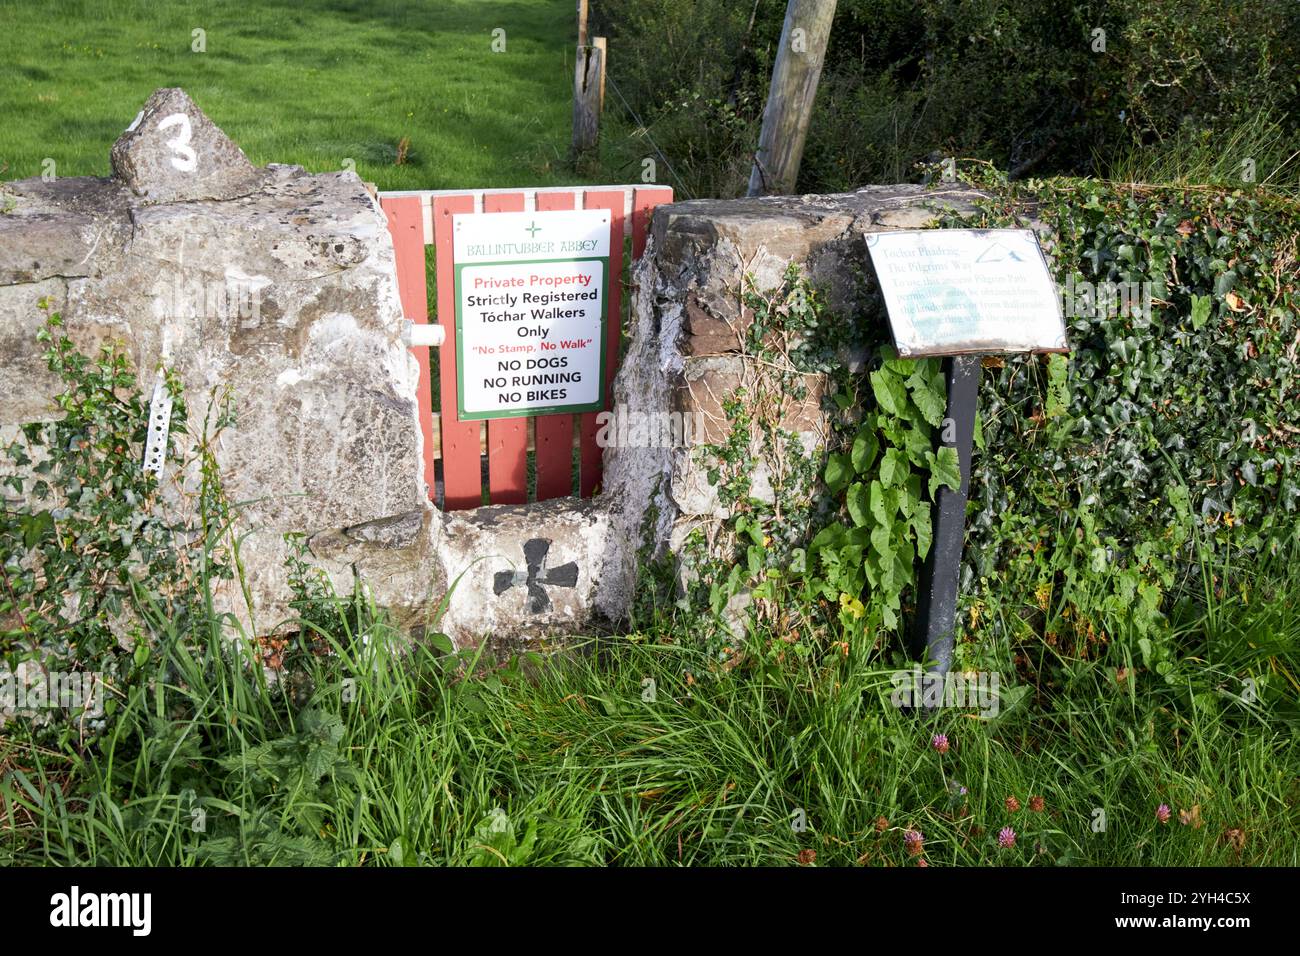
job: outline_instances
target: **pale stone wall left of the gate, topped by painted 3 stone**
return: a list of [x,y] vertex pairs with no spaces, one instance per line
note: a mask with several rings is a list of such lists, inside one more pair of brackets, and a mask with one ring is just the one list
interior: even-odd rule
[[[150,98],[112,164],[110,178],[3,187],[0,428],[55,414],[57,381],[36,342],[42,298],[83,351],[122,342],[146,393],[155,369],[174,368],[195,428],[229,389],[238,424],[217,459],[230,501],[243,502],[255,606],[221,597],[268,632],[289,611],[286,532],[341,529],[360,561],[411,544],[386,524],[393,515],[413,514],[429,532],[417,365],[400,341],[385,220],[352,173],[255,168],[181,90]],[[179,506],[196,475],[166,477]],[[332,570],[346,581],[350,563]],[[411,591],[381,597],[404,602]]]

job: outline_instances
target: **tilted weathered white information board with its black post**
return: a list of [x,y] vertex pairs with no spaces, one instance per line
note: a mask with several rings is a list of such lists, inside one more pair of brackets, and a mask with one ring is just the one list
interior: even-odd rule
[[867,235],[900,358],[944,358],[940,444],[956,449],[961,488],[940,486],[935,536],[918,583],[911,652],[932,674],[952,666],[982,356],[1066,352],[1065,320],[1028,229],[922,229]]

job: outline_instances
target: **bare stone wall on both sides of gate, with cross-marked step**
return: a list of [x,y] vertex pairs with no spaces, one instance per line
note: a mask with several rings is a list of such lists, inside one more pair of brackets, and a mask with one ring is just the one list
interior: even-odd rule
[[[698,446],[725,434],[722,398],[755,373],[740,349],[744,273],[775,287],[793,261],[832,308],[853,310],[864,233],[916,228],[975,198],[900,186],[660,207],[615,395],[619,412],[689,414],[690,441],[607,447],[590,501],[443,514],[422,480],[393,245],[360,179],[255,168],[181,90],[153,94],[110,155],[110,178],[0,186],[0,445],[56,414],[36,342],[48,298],[83,350],[122,342],[146,392],[160,365],[174,368],[191,427],[229,390],[237,423],[216,457],[242,502],[251,606],[231,584],[222,610],[254,633],[289,617],[294,532],[337,588],[364,581],[413,633],[434,624],[450,588],[437,627],[462,646],[537,644],[590,631],[594,615],[621,618],[645,558],[725,518]],[[824,382],[806,384],[780,415],[815,454]],[[198,476],[165,479],[165,499],[182,507]]]

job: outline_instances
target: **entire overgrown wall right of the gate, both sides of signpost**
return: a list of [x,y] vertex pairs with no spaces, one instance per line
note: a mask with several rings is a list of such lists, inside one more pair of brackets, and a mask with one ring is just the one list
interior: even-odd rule
[[[632,355],[654,342],[668,356],[656,375],[708,428],[664,457],[642,529],[658,550],[642,558],[681,559],[672,597],[712,611],[724,666],[762,648],[901,650],[930,505],[957,480],[935,450],[939,364],[892,356],[866,232],[1031,226],[1062,291],[1069,356],[984,362],[958,666],[1002,667],[1026,641],[1088,657],[1121,639],[1167,670],[1171,614],[1202,562],[1296,538],[1296,207],[980,186],[942,187],[928,208],[867,191],[656,213]],[[629,367],[650,365],[629,358],[621,402],[636,398]],[[607,466],[616,481],[616,453]]]

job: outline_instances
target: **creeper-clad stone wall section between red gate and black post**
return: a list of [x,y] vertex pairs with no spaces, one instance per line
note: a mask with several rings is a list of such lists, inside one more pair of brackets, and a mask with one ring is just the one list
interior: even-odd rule
[[722,665],[757,648],[754,626],[780,641],[900,626],[932,479],[956,471],[933,447],[937,365],[880,367],[864,235],[975,213],[979,198],[872,186],[656,209],[615,398],[637,412],[668,397],[696,428],[685,447],[607,449],[604,494],[642,540],[637,604],[705,611]]

